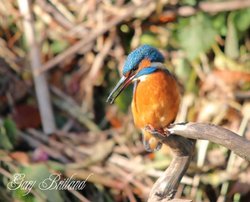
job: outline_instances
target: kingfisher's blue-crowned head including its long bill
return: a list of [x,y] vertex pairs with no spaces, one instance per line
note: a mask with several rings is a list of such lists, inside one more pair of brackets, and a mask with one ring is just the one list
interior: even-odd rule
[[119,94],[135,79],[157,71],[152,63],[163,63],[163,55],[154,47],[142,45],[132,51],[124,64],[122,78],[110,93],[107,102],[113,103]]

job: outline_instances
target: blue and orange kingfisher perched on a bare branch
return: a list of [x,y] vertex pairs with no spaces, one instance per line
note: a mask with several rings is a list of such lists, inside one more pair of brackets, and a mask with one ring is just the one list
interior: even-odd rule
[[138,47],[128,55],[122,77],[107,98],[112,104],[127,86],[134,83],[133,119],[142,131],[143,144],[149,152],[161,148],[161,141],[153,133],[166,135],[164,128],[175,120],[180,104],[178,83],[163,63],[164,57],[156,48]]

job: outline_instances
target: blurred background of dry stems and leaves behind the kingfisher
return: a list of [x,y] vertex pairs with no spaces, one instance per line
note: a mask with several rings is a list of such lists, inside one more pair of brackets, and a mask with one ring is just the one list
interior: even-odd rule
[[[0,0],[0,201],[146,201],[171,151],[144,150],[132,87],[105,102],[141,44],[158,48],[178,78],[176,122],[250,139],[249,0]],[[9,189],[15,173],[86,186],[43,191],[36,183],[25,195]],[[249,162],[198,141],[176,197],[250,201]]]

